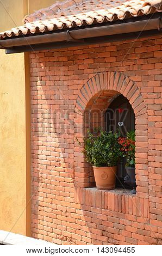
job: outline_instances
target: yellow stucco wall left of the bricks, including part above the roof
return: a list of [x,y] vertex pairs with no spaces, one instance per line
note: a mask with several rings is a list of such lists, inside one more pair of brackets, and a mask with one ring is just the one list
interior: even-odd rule
[[[1,0],[0,31],[54,0]],[[28,54],[0,50],[0,229],[30,236],[30,89]]]

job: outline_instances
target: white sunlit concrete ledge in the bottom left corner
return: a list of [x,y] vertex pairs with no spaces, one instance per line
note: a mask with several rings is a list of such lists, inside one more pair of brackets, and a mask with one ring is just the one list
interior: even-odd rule
[[0,230],[0,244],[24,246],[54,246],[54,243]]

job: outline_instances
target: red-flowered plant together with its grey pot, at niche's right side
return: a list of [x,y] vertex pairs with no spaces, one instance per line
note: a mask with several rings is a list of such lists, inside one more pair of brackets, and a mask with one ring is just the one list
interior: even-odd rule
[[119,144],[122,157],[126,157],[127,176],[124,178],[124,182],[133,187],[131,193],[135,194],[135,132],[127,132],[126,138],[119,137]]

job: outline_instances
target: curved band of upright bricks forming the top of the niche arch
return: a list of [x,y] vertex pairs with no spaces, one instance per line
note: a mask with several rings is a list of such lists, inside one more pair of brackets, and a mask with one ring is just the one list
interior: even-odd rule
[[114,91],[126,97],[135,115],[146,114],[142,119],[147,119],[147,108],[139,88],[121,72],[101,72],[90,78],[80,89],[76,101],[75,112],[83,115],[89,101],[103,91]]

